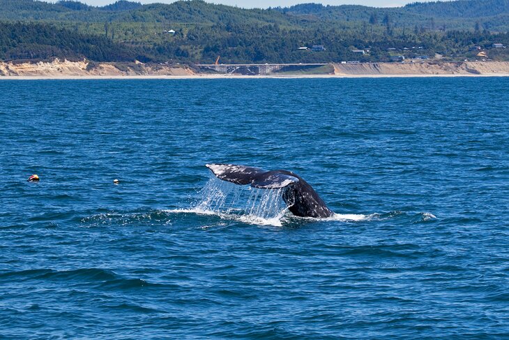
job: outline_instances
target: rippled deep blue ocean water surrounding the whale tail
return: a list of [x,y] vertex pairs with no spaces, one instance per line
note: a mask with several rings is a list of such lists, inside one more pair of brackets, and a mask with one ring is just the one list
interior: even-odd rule
[[[0,338],[507,339],[506,89],[2,80]],[[292,170],[336,215],[206,163]]]

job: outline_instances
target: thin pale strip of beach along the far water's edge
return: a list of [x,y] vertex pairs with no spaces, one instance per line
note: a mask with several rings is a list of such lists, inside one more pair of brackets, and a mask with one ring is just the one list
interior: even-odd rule
[[223,80],[223,79],[353,79],[427,77],[509,77],[509,73],[484,74],[361,74],[361,75],[0,75],[2,80]]

